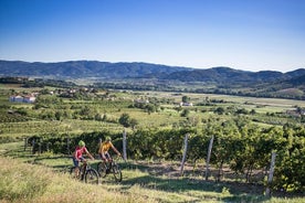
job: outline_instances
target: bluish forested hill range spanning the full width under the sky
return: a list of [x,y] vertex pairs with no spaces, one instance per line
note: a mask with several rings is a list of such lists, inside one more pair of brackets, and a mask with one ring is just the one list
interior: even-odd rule
[[[59,63],[29,63],[0,61],[0,76],[32,76],[51,78],[158,78],[180,82],[218,84],[257,84],[285,82],[304,84],[305,68],[281,73],[274,71],[246,72],[230,67],[207,70],[177,67],[149,63],[108,63],[97,61],[70,61]],[[295,79],[296,78],[296,79]]]

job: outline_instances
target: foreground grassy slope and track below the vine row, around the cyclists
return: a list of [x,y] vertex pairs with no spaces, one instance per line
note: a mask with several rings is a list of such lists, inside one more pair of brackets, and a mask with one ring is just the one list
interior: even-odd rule
[[0,202],[305,202],[304,197],[269,199],[255,185],[179,177],[169,170],[173,163],[120,162],[120,183],[109,177],[90,185],[64,173],[72,164],[67,157],[33,156],[22,142],[1,143],[0,154]]

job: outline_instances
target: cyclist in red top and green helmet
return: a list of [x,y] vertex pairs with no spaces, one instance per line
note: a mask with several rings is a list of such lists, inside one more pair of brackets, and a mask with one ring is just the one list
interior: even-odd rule
[[78,141],[78,146],[75,148],[75,151],[73,153],[73,164],[75,167],[76,177],[78,177],[80,174],[80,161],[86,162],[83,153],[86,153],[92,160],[94,160],[94,157],[88,152],[85,142],[81,140]]

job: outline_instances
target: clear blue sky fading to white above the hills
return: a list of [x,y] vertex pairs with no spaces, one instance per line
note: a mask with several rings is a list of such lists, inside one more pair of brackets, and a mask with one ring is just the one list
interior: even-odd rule
[[305,68],[304,0],[0,0],[0,60]]

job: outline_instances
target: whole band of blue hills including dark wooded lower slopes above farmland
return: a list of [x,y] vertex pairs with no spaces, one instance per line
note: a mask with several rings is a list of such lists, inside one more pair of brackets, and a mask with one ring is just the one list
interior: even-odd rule
[[[189,89],[200,93],[305,98],[305,68],[281,73],[275,71],[249,72],[231,67],[199,70],[149,63],[0,61],[0,76],[63,81],[82,78],[94,79],[96,85],[108,88],[161,90],[179,90],[178,86],[181,87],[181,84],[191,86],[196,83],[197,89],[193,87]],[[210,87],[207,84],[211,84]]]

